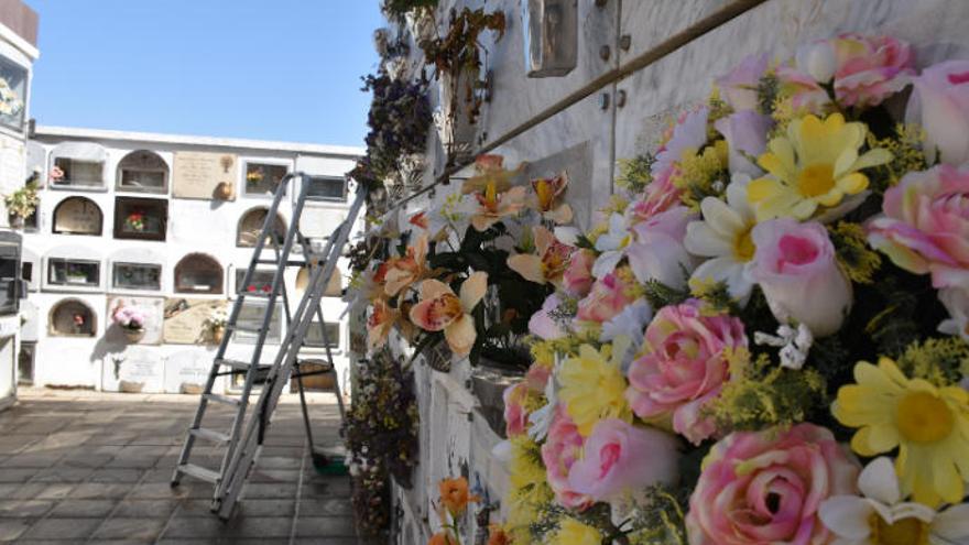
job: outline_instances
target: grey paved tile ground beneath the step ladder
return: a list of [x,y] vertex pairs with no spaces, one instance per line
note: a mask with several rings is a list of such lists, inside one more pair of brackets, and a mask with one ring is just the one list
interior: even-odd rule
[[[300,406],[287,397],[243,501],[222,523],[208,510],[210,484],[185,477],[168,486],[195,396],[21,391],[0,413],[0,542],[358,543],[349,479],[316,475]],[[335,442],[333,397],[312,401],[317,444]],[[205,444],[196,451],[206,448],[215,454]]]

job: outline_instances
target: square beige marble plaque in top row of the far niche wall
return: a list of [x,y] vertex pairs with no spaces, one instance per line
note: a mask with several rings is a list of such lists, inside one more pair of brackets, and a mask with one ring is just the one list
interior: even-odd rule
[[[178,198],[211,199],[219,184],[236,186],[239,157],[231,153],[175,152],[174,195]],[[235,200],[235,192],[222,200]]]

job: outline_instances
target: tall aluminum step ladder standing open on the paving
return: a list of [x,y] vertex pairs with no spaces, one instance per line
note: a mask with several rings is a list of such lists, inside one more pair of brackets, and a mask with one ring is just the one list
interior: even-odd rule
[[[280,244],[279,233],[274,229],[276,211],[292,179],[298,182],[300,194],[293,205],[293,218],[282,240],[282,244]],[[349,239],[353,222],[360,212],[364,193],[358,192],[347,218],[327,239],[323,252],[316,252],[311,241],[300,232],[298,227],[312,181],[311,176],[304,174],[290,174],[281,181],[276,188],[262,231],[255,242],[249,269],[242,282],[243,288],[237,294],[232,310],[229,314],[226,325],[227,335],[222,338],[213,360],[198,410],[188,429],[182,448],[182,455],[172,476],[173,487],[178,486],[182,477],[186,475],[214,484],[211,510],[224,520],[231,515],[232,509],[242,492],[249,471],[262,449],[265,430],[270,424],[273,410],[279,402],[279,396],[291,378],[295,378],[300,386],[304,423],[312,444],[309,418],[303,396],[302,377],[304,374],[300,372],[300,364],[305,360],[301,358],[301,349],[305,346],[306,335],[313,326],[314,318],[318,319],[320,338],[326,349],[327,359],[323,362],[324,369],[322,371],[306,374],[330,374],[334,385],[333,392],[337,396],[340,416],[344,416],[342,395],[333,361],[326,323],[323,319],[320,299],[330,276],[336,271],[337,260],[340,258],[342,248]],[[272,247],[273,258],[263,258],[266,244]],[[300,249],[301,255],[295,254],[294,248]],[[271,290],[269,292],[249,292],[244,287],[251,285],[255,271],[260,265],[273,265],[275,268]],[[295,313],[291,315],[284,273],[287,268],[293,266],[308,268],[309,281]],[[283,298],[283,306],[287,318],[286,335],[282,339],[272,363],[264,364],[262,363],[263,347],[270,333],[270,325],[279,297]],[[242,306],[251,298],[265,303],[265,309],[259,327],[239,324]],[[246,360],[226,357],[227,349],[230,342],[232,342],[235,334],[239,331],[255,336],[254,344],[249,345],[251,347],[251,356]],[[318,359],[309,361],[316,364],[320,363]],[[213,391],[218,377],[236,374],[244,374],[246,377],[241,394],[238,397],[217,394]],[[254,407],[250,410],[250,397],[257,383],[261,383],[262,388]],[[236,413],[228,430],[203,426],[209,403],[226,404],[235,407]],[[205,467],[204,465],[190,461],[192,451],[197,439],[213,442],[224,449],[218,468]]]

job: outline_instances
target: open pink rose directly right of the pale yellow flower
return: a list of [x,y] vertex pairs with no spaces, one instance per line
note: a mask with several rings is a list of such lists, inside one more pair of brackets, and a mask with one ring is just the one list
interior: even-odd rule
[[668,421],[693,444],[716,432],[704,407],[720,395],[730,374],[725,350],[747,348],[743,323],[728,314],[710,316],[689,299],[663,307],[646,327],[641,358],[629,368],[625,396],[646,421]]

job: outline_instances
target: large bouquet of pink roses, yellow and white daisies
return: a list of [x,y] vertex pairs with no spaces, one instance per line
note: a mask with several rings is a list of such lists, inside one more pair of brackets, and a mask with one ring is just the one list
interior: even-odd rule
[[716,83],[562,250],[504,530],[969,543],[969,61],[845,34]]

